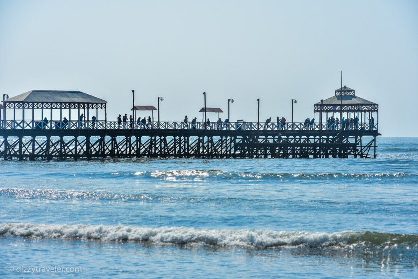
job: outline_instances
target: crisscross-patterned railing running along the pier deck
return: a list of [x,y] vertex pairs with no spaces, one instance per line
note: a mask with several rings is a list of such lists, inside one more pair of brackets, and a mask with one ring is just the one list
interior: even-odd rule
[[164,129],[164,130],[377,130],[377,123],[351,123],[341,127],[341,124],[302,122],[294,123],[257,123],[229,122],[210,124],[205,122],[130,122],[117,121],[61,121],[61,120],[1,120],[0,129]]

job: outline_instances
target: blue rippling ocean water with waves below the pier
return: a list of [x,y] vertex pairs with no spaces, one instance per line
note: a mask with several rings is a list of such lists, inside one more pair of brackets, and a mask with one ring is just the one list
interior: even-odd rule
[[377,159],[0,161],[0,278],[418,278],[418,138]]

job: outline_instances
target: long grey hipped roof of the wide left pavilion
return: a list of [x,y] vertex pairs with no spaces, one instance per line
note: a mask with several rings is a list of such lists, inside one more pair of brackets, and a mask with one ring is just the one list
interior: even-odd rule
[[81,91],[31,90],[11,97],[8,103],[82,103],[105,104],[106,101]]

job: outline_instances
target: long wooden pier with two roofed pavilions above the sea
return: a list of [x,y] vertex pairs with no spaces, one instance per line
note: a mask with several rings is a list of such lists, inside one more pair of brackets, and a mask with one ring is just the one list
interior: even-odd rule
[[[317,123],[119,123],[107,121],[106,101],[80,91],[29,91],[4,100],[3,106],[0,158],[4,160],[376,158],[380,135],[373,117],[378,119],[378,105],[355,96],[346,86],[314,104]],[[13,119],[7,118],[10,110]],[[22,111],[22,119],[16,119],[16,110]],[[35,110],[41,111],[40,119],[35,119]],[[59,110],[60,119],[53,120],[53,110]],[[80,118],[82,113],[87,119]],[[104,120],[99,120],[99,113]],[[331,116],[357,121],[329,122]]]

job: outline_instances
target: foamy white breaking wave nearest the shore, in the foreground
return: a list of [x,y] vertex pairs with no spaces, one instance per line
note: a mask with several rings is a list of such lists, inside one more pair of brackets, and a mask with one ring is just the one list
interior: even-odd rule
[[0,224],[0,236],[60,238],[94,241],[129,241],[148,244],[197,244],[223,248],[274,249],[283,246],[330,247],[374,246],[417,248],[418,235],[342,231],[320,233],[272,230],[206,230],[186,227],[148,228],[104,225]]

